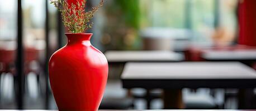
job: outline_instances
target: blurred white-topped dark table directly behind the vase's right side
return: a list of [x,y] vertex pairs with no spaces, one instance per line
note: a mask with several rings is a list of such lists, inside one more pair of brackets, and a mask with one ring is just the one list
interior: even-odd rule
[[[181,62],[184,60],[182,53],[171,51],[107,51],[105,56],[110,67],[109,77],[112,78],[121,75],[127,62]],[[128,92],[128,96],[131,96],[130,90]],[[150,91],[146,89],[146,92],[149,93]],[[149,97],[145,99],[149,99]]]

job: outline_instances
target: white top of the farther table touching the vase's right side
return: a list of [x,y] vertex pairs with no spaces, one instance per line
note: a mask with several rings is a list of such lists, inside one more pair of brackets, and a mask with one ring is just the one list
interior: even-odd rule
[[107,51],[108,62],[171,62],[184,59],[183,54],[170,51]]

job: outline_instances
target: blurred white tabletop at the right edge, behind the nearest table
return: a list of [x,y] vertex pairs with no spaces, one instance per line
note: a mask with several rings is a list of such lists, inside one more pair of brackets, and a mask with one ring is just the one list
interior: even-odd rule
[[256,49],[206,50],[202,57],[207,60],[256,60]]

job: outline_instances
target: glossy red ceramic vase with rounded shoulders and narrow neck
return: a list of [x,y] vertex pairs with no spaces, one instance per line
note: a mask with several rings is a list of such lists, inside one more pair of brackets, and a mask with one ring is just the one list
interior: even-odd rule
[[90,43],[91,33],[66,33],[68,43],[50,58],[51,89],[59,110],[96,111],[107,83],[106,57]]

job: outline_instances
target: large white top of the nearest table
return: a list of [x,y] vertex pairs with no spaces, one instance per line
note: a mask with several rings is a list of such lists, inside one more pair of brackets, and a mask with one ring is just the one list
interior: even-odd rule
[[127,63],[122,79],[255,79],[239,62]]

